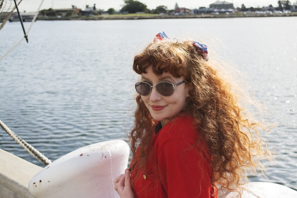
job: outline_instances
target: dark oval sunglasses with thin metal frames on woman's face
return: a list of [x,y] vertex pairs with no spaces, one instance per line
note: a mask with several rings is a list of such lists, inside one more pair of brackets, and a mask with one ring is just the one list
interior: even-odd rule
[[176,85],[173,85],[172,83],[169,83],[169,82],[159,82],[157,83],[157,85],[152,86],[147,82],[141,81],[135,84],[135,89],[137,93],[140,94],[141,96],[147,96],[151,93],[151,89],[155,87],[159,92],[159,94],[161,94],[162,96],[171,96],[174,93],[175,87],[184,82],[185,81],[181,81]]

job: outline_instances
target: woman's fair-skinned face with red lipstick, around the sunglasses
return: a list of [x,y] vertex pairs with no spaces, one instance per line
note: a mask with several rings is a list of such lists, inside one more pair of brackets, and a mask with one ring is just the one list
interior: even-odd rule
[[[176,78],[170,73],[163,73],[156,76],[152,72],[152,67],[146,69],[146,74],[141,74],[141,80],[155,86],[159,82],[170,82],[174,85],[184,80],[184,77]],[[165,126],[171,118],[176,116],[186,106],[186,99],[189,97],[190,87],[187,83],[182,83],[176,86],[174,93],[171,96],[162,96],[152,88],[151,93],[147,96],[141,96],[141,99],[148,108],[151,116],[156,121],[161,121],[162,126]]]

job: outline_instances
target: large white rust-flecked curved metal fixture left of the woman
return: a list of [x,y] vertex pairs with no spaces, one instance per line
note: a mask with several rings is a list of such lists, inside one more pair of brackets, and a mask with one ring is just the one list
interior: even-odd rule
[[29,182],[36,198],[119,197],[113,180],[128,166],[130,148],[123,140],[99,142],[68,153],[42,169]]

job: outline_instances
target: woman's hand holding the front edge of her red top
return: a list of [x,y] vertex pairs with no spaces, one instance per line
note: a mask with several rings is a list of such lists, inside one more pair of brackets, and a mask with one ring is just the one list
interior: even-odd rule
[[114,189],[121,198],[134,198],[130,180],[131,175],[129,169],[126,169],[124,174],[117,176],[113,181]]

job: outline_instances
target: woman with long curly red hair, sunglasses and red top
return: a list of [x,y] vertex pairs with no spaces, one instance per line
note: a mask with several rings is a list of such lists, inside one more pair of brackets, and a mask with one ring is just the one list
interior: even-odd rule
[[133,157],[114,181],[121,198],[218,197],[240,189],[246,168],[261,170],[263,125],[207,61],[206,45],[164,32],[135,56]]

